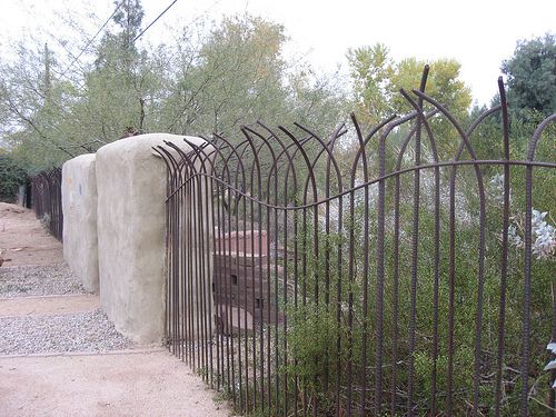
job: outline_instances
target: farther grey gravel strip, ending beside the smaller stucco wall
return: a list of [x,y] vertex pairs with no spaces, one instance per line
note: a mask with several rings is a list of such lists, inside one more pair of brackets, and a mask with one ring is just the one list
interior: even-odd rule
[[83,294],[66,264],[0,268],[0,297]]

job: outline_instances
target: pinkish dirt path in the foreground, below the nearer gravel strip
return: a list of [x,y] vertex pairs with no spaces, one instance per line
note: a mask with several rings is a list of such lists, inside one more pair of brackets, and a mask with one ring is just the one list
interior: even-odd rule
[[228,416],[162,351],[0,358],[0,416]]

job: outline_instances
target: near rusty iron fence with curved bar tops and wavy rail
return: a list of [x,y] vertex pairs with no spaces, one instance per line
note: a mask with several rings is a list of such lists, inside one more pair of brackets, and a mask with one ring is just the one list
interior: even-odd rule
[[353,116],[327,139],[258,123],[156,149],[168,347],[241,413],[554,409],[542,210],[555,202],[556,115],[510,140],[499,80],[500,105],[465,129],[424,92],[427,72],[400,92],[413,111],[366,133]]

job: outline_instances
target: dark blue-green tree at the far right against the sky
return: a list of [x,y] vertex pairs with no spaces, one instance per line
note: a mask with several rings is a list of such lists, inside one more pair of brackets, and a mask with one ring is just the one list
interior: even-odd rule
[[508,77],[508,101],[516,110],[556,111],[556,42],[554,34],[520,40],[514,56],[502,63]]

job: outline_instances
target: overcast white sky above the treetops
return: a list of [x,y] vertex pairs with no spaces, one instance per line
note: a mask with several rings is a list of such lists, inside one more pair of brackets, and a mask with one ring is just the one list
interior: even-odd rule
[[[146,26],[171,0],[142,3]],[[113,10],[112,0],[1,0],[0,4],[1,53],[13,39],[31,34],[38,40],[48,40],[47,32],[72,39],[77,31],[63,21],[68,16],[75,16],[92,37]],[[199,16],[218,20],[245,11],[284,24],[290,38],[287,54],[302,53],[326,71],[338,64],[346,69],[348,48],[376,42],[386,43],[395,59],[454,58],[479,103],[495,95],[500,62],[513,54],[518,39],[556,32],[555,0],[178,0],[142,41],[157,43],[169,28]]]

